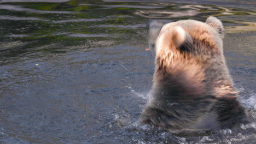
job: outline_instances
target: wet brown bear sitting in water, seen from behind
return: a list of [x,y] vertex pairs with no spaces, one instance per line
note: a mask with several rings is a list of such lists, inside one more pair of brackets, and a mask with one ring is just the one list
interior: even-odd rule
[[206,22],[181,20],[164,26],[154,21],[148,28],[155,72],[142,123],[177,133],[216,130],[245,119],[226,67],[220,20],[211,16]]

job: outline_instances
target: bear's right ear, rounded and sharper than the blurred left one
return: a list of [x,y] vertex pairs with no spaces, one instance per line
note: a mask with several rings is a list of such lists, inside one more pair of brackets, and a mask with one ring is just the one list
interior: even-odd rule
[[220,34],[221,38],[224,38],[224,28],[222,25],[222,22],[217,19],[216,17],[210,16],[208,19],[206,19],[205,23],[207,23],[209,26],[216,29],[216,31]]

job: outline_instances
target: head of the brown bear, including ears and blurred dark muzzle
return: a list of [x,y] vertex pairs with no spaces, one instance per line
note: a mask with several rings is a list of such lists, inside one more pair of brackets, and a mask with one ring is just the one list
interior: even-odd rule
[[[181,20],[163,26],[161,22],[148,24],[149,47],[156,53],[163,49],[195,51],[211,49],[223,52],[224,28],[222,22],[210,16],[206,22]],[[200,49],[196,49],[200,46]],[[215,49],[215,50],[214,50]]]

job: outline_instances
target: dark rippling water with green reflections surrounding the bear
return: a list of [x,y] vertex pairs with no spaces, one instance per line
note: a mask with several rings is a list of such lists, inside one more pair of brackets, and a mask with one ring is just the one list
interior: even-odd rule
[[255,1],[37,2],[0,1],[0,143],[256,141],[255,120],[196,134],[139,123],[154,72],[146,23],[210,15],[224,23],[230,74],[255,117]]

